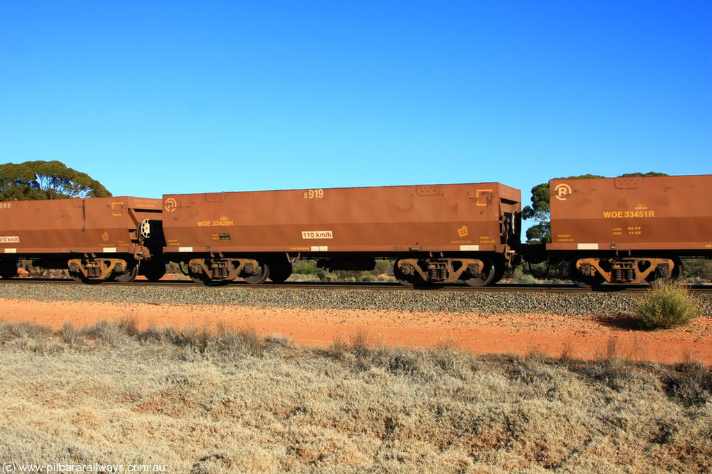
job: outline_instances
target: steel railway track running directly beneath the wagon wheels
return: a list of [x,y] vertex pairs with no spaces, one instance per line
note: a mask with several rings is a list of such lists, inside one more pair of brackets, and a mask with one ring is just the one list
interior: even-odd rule
[[[0,280],[0,285],[11,284],[57,284],[57,285],[83,285],[80,281],[72,279],[43,279],[43,278],[19,278]],[[204,284],[197,284],[190,280],[161,280],[151,282],[137,279],[130,283],[118,281],[105,281],[101,286],[171,286],[179,287],[203,287]],[[265,283],[262,285],[249,285],[243,281],[232,281],[229,284],[219,285],[219,288],[230,289],[365,289],[379,291],[456,291],[466,293],[643,293],[649,286],[613,286],[604,285],[595,289],[580,288],[573,284],[496,284],[494,286],[473,287],[466,284],[448,284],[443,286],[432,286],[427,289],[412,289],[394,282],[344,282],[344,281],[286,281],[281,284]],[[1,286],[0,286],[1,288]],[[712,284],[697,284],[690,286],[692,293],[712,293]]]

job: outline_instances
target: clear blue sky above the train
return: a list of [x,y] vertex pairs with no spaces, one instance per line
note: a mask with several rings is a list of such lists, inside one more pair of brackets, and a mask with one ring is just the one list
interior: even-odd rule
[[712,1],[0,0],[0,162],[115,195],[712,173]]

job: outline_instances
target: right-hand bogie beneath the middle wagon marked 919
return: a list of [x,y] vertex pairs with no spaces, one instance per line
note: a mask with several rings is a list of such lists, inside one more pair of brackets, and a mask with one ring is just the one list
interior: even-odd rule
[[452,283],[459,279],[480,276],[486,264],[480,259],[400,259],[396,262],[400,274],[416,277],[427,283]]

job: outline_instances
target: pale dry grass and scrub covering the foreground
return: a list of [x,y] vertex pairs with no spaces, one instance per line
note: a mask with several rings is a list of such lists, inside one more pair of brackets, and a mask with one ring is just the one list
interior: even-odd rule
[[[0,459],[174,473],[694,473],[712,378],[690,360],[324,350],[251,330],[0,323]],[[566,352],[566,351],[565,351]]]

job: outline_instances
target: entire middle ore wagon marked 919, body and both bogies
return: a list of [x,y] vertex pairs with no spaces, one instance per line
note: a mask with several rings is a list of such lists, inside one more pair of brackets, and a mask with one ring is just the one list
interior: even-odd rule
[[194,281],[284,281],[295,258],[332,270],[396,260],[402,284],[501,278],[520,191],[500,183],[164,195],[169,259]]

